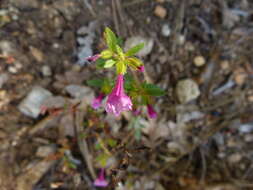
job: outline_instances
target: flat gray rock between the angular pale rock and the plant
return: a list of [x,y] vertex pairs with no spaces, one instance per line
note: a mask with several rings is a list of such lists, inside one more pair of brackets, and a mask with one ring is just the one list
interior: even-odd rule
[[76,99],[82,100],[85,98],[87,102],[91,102],[94,98],[93,90],[86,86],[71,84],[66,86],[65,90]]

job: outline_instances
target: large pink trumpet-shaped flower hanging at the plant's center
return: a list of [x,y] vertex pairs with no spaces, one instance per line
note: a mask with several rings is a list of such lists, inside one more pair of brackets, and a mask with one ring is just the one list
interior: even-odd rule
[[122,111],[132,110],[132,106],[131,99],[124,92],[123,75],[119,74],[116,85],[108,96],[105,110],[107,113],[119,116]]

